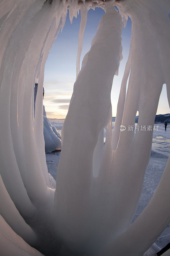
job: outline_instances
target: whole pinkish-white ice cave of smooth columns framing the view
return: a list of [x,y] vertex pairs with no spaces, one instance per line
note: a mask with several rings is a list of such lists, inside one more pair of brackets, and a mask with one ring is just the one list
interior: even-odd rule
[[[80,70],[87,12],[97,7],[105,14]],[[81,12],[81,23],[55,189],[45,159],[42,92],[45,62],[68,9],[70,21]],[[120,125],[133,125],[137,111],[139,126],[153,125],[163,84],[170,103],[168,13],[169,0],[0,1],[0,255],[157,255],[152,244],[170,221],[170,159],[152,199],[131,224],[152,132],[120,132]],[[110,93],[128,16],[129,58],[112,134]],[[53,252],[45,254],[44,246]]]

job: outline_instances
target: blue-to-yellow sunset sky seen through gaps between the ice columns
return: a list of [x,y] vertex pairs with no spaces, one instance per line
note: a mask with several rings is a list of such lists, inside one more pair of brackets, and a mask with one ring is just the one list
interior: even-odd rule
[[[88,11],[80,68],[84,55],[90,50],[92,39],[96,34],[99,21],[104,13],[103,9],[98,7],[96,7],[95,10],[90,9]],[[78,15],[77,19],[74,17],[72,24],[70,24],[68,11],[63,31],[62,33],[60,31],[58,34],[46,61],[43,104],[48,118],[60,119],[65,118],[67,115],[73,85],[76,80],[76,59],[80,20],[81,15]],[[129,54],[130,36],[131,20],[128,18],[127,25],[122,31],[123,59],[120,63],[119,75],[114,76],[111,92],[112,116],[116,116],[121,81]],[[157,115],[169,112],[166,85],[164,84],[159,99]]]

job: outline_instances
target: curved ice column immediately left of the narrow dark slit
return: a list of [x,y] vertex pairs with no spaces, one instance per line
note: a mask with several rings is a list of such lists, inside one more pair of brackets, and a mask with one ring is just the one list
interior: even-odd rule
[[[32,35],[32,41],[29,45],[28,51],[25,54],[24,63],[26,63],[26,80],[25,80],[25,90],[23,95],[23,109],[22,109],[22,137],[23,137],[23,157],[25,159],[25,168],[26,168],[26,189],[29,197],[32,198],[34,203],[42,203],[49,196],[47,185],[48,185],[48,173],[47,167],[42,168],[42,160],[39,157],[39,150],[36,143],[36,134],[33,129],[32,123],[32,96],[33,88],[36,77],[36,67],[41,57],[41,50],[46,42],[48,31],[51,26],[51,21],[54,17],[54,8],[53,5],[49,7],[49,4],[46,2],[42,7],[41,11],[37,13],[34,17],[28,31],[27,35]],[[37,49],[34,52],[34,49]],[[24,64],[23,63],[23,64]],[[29,68],[28,68],[29,67]],[[31,86],[31,87],[30,87]],[[39,89],[38,89],[39,91]],[[37,92],[38,97],[38,92]],[[42,90],[41,90],[42,98]],[[42,115],[43,107],[41,105]],[[35,106],[35,115],[36,115],[36,106]],[[41,116],[41,119],[43,116]],[[43,119],[42,119],[43,123]],[[35,123],[34,123],[35,126]],[[27,130],[27,134],[25,131]],[[41,127],[43,131],[43,127]],[[39,138],[43,141],[43,133],[41,133]],[[36,129],[37,131],[37,129]],[[28,140],[29,138],[29,140]],[[40,139],[39,139],[40,140]],[[45,157],[43,155],[42,157]],[[32,161],[29,161],[29,159]],[[45,161],[45,160],[44,160]],[[32,186],[30,186],[32,184]]]

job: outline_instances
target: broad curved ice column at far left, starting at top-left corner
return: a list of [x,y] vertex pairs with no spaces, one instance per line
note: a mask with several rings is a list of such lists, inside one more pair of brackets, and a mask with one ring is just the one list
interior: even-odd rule
[[[12,116],[12,108],[15,111],[15,100],[17,97],[17,89],[12,91],[12,86],[15,88],[15,82],[17,81],[18,76],[18,43],[20,42],[23,35],[25,35],[25,29],[29,26],[30,19],[41,9],[42,4],[37,3],[31,6],[33,1],[23,2],[18,6],[18,8],[13,8],[9,16],[4,20],[1,27],[1,43],[4,45],[2,47],[0,55],[2,55],[2,66],[0,69],[1,73],[1,92],[0,92],[0,157],[1,157],[1,175],[4,181],[5,187],[8,190],[8,193],[11,196],[11,199],[17,206],[18,210],[24,215],[32,214],[34,207],[30,202],[30,199],[27,195],[27,191],[24,187],[20,170],[18,168],[18,163],[16,155],[14,152],[15,147],[13,146],[12,141],[12,131],[11,129],[16,127],[17,119],[16,115]],[[33,16],[27,16],[24,14],[26,12],[32,12]],[[18,16],[19,15],[19,16]],[[16,20],[16,17],[20,17],[19,20]],[[19,21],[23,23],[26,22],[26,26],[23,28],[20,26]],[[27,24],[28,22],[28,24]],[[12,24],[12,25],[11,25]],[[15,32],[14,32],[15,31]],[[11,36],[12,35],[12,36]],[[20,35],[20,37],[18,36]],[[4,40],[4,41],[3,41]],[[6,46],[6,48],[5,48]],[[25,46],[26,47],[26,46]],[[5,52],[5,54],[4,54]],[[24,58],[24,51],[20,55],[20,61],[22,62]],[[3,55],[4,54],[4,55]],[[10,61],[9,61],[10,60]],[[16,65],[15,60],[17,60]],[[11,97],[10,97],[11,95]],[[14,120],[14,126],[11,127],[11,122]],[[18,137],[17,129],[15,130],[16,139]],[[19,141],[18,141],[19,143]],[[8,154],[7,154],[8,152]],[[10,161],[9,161],[10,159]],[[11,172],[12,170],[12,172]]]

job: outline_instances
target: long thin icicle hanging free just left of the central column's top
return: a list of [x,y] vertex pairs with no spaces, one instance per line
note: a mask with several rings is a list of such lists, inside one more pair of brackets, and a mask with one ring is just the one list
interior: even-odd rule
[[81,57],[81,52],[82,52],[82,47],[83,47],[83,37],[84,37],[84,32],[85,32],[85,26],[87,22],[87,8],[83,5],[80,8],[81,12],[81,22],[80,22],[80,29],[78,33],[78,52],[77,52],[77,61],[76,61],[76,79],[78,77],[78,74],[80,72],[80,57]]

